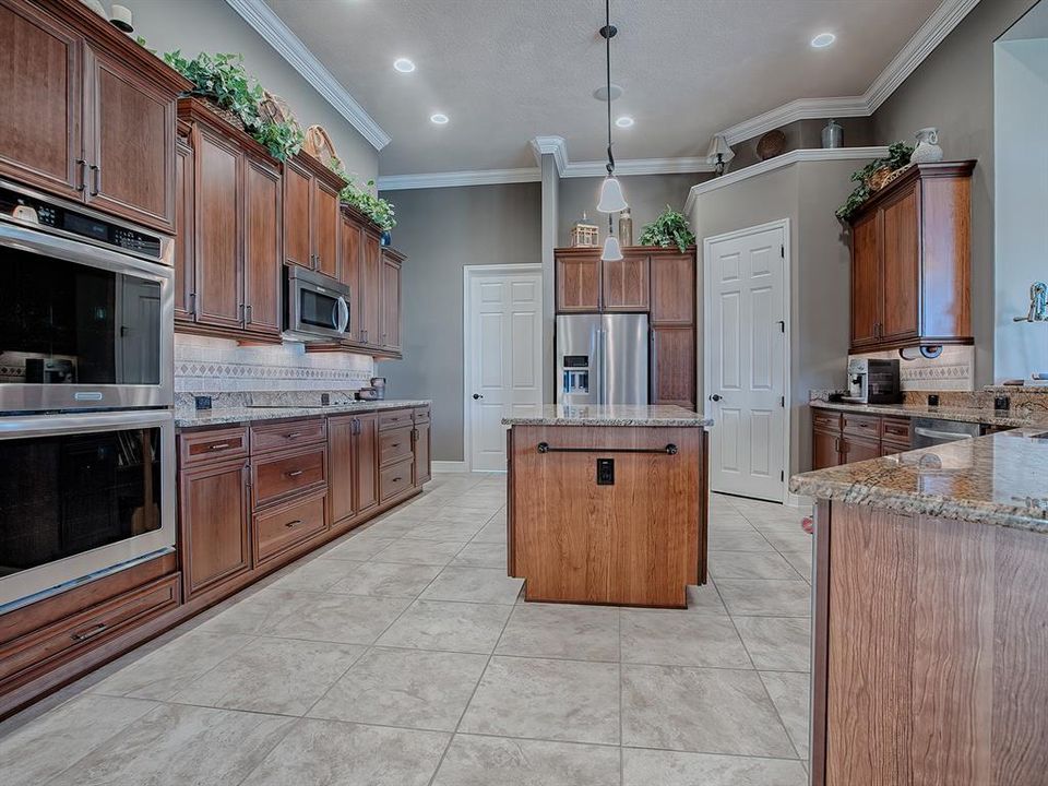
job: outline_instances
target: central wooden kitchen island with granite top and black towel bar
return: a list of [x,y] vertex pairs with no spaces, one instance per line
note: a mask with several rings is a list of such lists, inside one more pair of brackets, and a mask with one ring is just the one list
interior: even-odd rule
[[508,432],[509,574],[525,599],[687,606],[706,581],[706,427],[677,406],[546,406]]

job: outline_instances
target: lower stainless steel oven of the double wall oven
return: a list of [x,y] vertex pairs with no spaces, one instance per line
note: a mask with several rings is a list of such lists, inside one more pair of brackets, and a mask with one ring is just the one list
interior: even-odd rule
[[170,409],[0,417],[0,614],[169,552]]

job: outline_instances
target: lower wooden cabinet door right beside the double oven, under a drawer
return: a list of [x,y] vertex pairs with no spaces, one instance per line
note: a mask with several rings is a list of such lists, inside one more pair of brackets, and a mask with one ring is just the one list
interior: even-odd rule
[[187,598],[251,568],[247,479],[242,461],[180,474],[179,536]]

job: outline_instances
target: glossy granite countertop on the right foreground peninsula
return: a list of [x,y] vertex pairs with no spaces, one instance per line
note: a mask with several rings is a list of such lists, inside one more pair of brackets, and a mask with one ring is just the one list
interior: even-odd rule
[[1048,535],[1048,426],[795,475],[789,490]]

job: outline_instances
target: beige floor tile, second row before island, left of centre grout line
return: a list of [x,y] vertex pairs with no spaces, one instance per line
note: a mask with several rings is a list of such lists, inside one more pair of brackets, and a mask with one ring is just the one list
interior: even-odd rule
[[619,741],[618,664],[495,656],[460,724],[464,733]]

